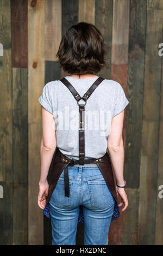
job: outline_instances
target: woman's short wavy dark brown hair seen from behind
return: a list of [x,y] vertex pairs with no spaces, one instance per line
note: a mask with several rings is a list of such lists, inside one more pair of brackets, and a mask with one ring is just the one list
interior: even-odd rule
[[105,59],[110,49],[97,27],[80,22],[66,29],[56,57],[68,74],[92,74],[110,68]]

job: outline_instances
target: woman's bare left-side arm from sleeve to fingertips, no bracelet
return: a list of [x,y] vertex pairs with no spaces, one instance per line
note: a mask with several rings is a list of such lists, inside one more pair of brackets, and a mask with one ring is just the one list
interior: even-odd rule
[[42,109],[42,139],[40,145],[41,172],[39,181],[39,195],[37,204],[45,208],[46,195],[48,194],[48,171],[56,148],[55,121],[53,115],[45,108]]

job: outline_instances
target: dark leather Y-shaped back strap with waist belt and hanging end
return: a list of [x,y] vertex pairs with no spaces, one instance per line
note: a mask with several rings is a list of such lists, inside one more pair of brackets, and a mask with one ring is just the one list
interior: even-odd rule
[[[95,82],[91,85],[89,90],[84,94],[83,97],[79,95],[79,93],[76,91],[76,89],[68,82],[66,78],[60,79],[60,81],[70,90],[72,93],[73,97],[77,100],[77,104],[79,105],[79,160],[71,159],[68,157],[65,157],[64,154],[61,154],[61,162],[62,163],[67,163],[64,169],[64,182],[65,182],[65,197],[70,197],[70,186],[69,186],[69,178],[68,178],[68,165],[74,165],[74,164],[79,164],[79,165],[84,165],[84,164],[95,164],[98,161],[102,162],[103,159],[99,158],[91,158],[91,159],[85,159],[85,134],[84,134],[84,126],[85,126],[85,105],[87,99],[91,96],[93,91],[97,88],[99,84],[104,80],[104,78],[101,78],[99,76]],[[83,99],[85,100],[85,104],[79,104],[79,100]]]

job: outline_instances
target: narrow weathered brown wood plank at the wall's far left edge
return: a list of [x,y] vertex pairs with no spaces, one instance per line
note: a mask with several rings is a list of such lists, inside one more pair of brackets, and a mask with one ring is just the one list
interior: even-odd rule
[[12,70],[11,70],[11,10],[10,1],[0,0],[0,41],[3,56],[0,57],[0,199],[1,245],[12,245]]

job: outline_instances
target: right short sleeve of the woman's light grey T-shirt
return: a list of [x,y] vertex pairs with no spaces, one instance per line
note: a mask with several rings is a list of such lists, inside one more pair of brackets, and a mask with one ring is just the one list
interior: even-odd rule
[[124,90],[122,86],[117,82],[114,100],[114,111],[112,117],[120,114],[120,112],[122,112],[128,104],[129,101],[124,94]]

